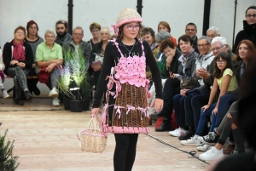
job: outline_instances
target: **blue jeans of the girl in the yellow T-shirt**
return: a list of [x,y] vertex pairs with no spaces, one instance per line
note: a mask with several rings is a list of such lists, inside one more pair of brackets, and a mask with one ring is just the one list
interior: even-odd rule
[[[204,109],[201,109],[200,120],[199,120],[198,127],[196,129],[195,134],[200,135],[200,136],[203,134],[204,129],[207,127],[208,118],[210,116],[213,117],[212,125],[215,125],[216,117],[214,114],[212,114],[212,110],[215,108],[215,106],[216,106],[216,103],[212,104],[205,112],[204,112]],[[212,127],[213,126],[211,126],[211,128]],[[211,132],[211,130],[210,130],[210,132]]]

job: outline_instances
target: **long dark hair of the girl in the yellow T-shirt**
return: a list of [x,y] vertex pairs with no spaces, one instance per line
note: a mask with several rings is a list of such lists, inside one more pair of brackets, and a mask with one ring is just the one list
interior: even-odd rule
[[234,70],[233,70],[233,65],[232,65],[232,60],[231,60],[231,57],[230,57],[230,54],[228,52],[220,52],[215,58],[214,58],[214,72],[213,72],[213,76],[216,77],[216,78],[221,78],[223,76],[223,72],[221,70],[218,69],[218,65],[217,65],[217,60],[219,59],[222,59],[222,60],[226,60],[226,63],[227,63],[227,66],[224,68],[224,71],[225,69],[227,68],[230,68],[231,71],[233,71],[233,76],[235,74]]

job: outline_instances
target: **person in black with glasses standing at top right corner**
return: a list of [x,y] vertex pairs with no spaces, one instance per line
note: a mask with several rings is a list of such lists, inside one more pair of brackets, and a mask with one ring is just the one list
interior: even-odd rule
[[236,48],[241,40],[248,39],[256,46],[256,6],[250,6],[246,10],[246,20],[243,20],[243,30],[236,35],[232,52],[236,54]]

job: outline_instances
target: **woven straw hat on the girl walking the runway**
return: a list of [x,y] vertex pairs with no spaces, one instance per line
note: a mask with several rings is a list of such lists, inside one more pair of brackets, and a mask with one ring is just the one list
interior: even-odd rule
[[129,22],[143,22],[143,19],[140,14],[137,13],[134,9],[124,9],[116,20],[116,27],[124,25]]

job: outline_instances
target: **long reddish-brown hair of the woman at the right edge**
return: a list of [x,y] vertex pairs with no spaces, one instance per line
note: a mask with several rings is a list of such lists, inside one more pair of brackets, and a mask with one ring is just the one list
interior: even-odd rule
[[239,56],[239,52],[238,52],[241,43],[245,43],[247,45],[247,55],[248,55],[247,60],[251,60],[251,59],[255,58],[256,47],[254,46],[254,44],[249,40],[242,40],[236,48],[236,58],[235,58],[235,60],[237,60],[237,61],[241,60],[241,57]]

